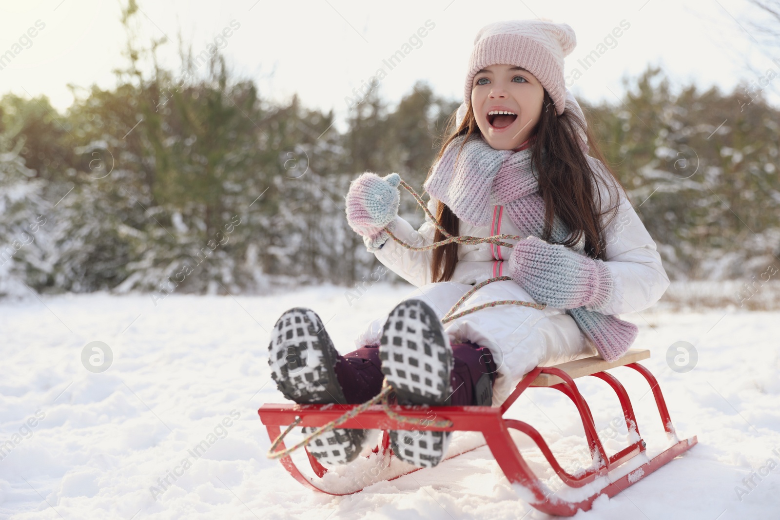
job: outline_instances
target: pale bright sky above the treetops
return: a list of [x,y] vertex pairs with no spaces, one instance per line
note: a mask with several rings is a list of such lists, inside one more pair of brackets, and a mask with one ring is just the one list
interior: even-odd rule
[[[635,79],[648,63],[661,65],[675,87],[697,83],[702,90],[718,85],[731,91],[770,68],[780,76],[780,48],[762,45],[768,38],[750,24],[770,17],[746,0],[139,0],[139,5],[145,41],[163,34],[174,40],[161,48],[165,65],[179,63],[179,33],[198,53],[227,29],[229,37],[218,43],[232,69],[254,79],[262,97],[286,100],[297,92],[304,105],[333,108],[340,129],[349,111],[345,97],[383,66],[388,75],[378,88],[391,103],[416,80],[427,80],[438,94],[462,98],[473,38],[499,19],[543,17],[573,27],[577,47],[566,58],[566,75],[580,69],[582,76],[569,80],[569,88],[591,102],[616,101],[624,92],[622,77]],[[412,51],[389,70],[383,59],[426,23],[425,37],[412,40]],[[584,69],[578,60],[621,23],[622,35]],[[115,84],[112,69],[126,64],[124,42],[118,0],[0,0],[0,94],[46,94],[64,110],[73,101],[69,83]],[[2,62],[6,51],[12,59]],[[780,105],[780,77],[764,95]]]

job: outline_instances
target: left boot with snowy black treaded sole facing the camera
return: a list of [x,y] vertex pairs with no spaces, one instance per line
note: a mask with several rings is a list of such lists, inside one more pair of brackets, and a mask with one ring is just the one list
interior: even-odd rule
[[[294,307],[282,314],[268,344],[268,366],[279,391],[300,404],[346,404],[336,378],[336,352],[313,310]],[[306,435],[316,428],[303,427]],[[325,464],[345,464],[360,454],[367,430],[337,428],[312,440],[310,453]],[[313,445],[312,445],[313,444]]]

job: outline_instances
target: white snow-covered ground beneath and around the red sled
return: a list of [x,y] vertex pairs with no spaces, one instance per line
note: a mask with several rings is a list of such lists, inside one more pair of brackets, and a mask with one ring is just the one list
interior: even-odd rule
[[[519,499],[484,447],[349,497],[307,490],[265,458],[257,408],[284,401],[265,358],[278,315],[310,306],[349,352],[364,325],[411,290],[376,285],[351,307],[332,286],[267,298],[170,295],[157,307],[143,295],[0,303],[0,518],[548,518]],[[679,437],[698,435],[699,444],[576,518],[778,518],[780,312],[626,318],[640,326],[636,346],[653,352],[645,365]],[[90,341],[112,349],[104,373],[83,366]],[[668,366],[675,341],[696,345],[694,370]],[[668,441],[647,386],[629,369],[613,372],[635,400],[648,450],[660,451]],[[618,403],[590,379],[581,388],[614,452],[626,433],[610,426]],[[564,399],[533,389],[512,414],[537,426],[573,470],[587,462]],[[207,450],[190,455],[204,440]],[[557,489],[539,452],[517,440]],[[158,481],[166,477],[167,489]]]

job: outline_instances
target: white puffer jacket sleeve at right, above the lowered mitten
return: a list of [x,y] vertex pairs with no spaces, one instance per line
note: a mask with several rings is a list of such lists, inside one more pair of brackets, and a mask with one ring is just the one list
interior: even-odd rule
[[654,240],[612,175],[605,171],[601,161],[594,157],[588,160],[601,175],[598,184],[601,210],[608,210],[615,202],[618,204],[615,217],[605,226],[605,266],[612,274],[612,298],[598,312],[640,312],[661,299],[669,278]]

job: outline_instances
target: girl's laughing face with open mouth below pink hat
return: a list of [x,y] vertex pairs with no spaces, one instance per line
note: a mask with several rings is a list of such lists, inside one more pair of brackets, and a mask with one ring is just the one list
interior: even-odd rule
[[[489,65],[474,76],[471,108],[484,140],[495,150],[525,142],[541,117],[544,87],[522,67]],[[498,112],[510,115],[498,115]]]

